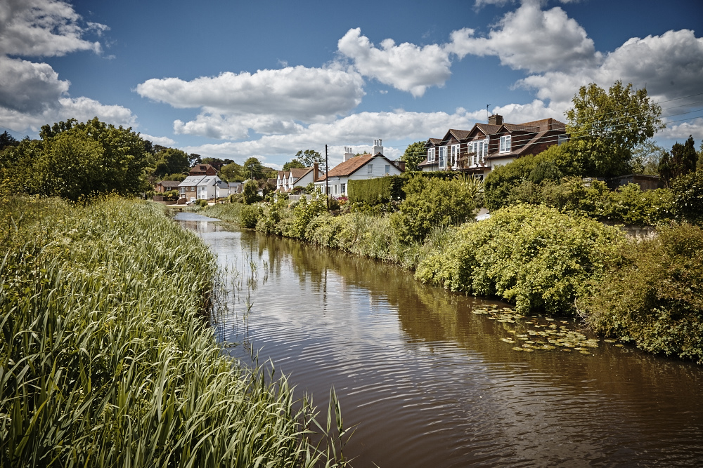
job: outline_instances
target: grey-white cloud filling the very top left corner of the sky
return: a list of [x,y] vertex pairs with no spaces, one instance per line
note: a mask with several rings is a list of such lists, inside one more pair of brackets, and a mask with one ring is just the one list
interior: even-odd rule
[[81,17],[65,1],[4,0],[0,3],[0,51],[5,55],[53,56],[74,51],[99,53],[99,42],[82,39],[84,32],[101,33],[98,23],[81,25]]

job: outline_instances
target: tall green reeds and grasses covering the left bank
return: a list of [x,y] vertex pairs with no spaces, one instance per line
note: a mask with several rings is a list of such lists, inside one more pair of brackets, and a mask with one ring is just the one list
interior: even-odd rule
[[214,259],[157,205],[6,198],[0,220],[1,466],[324,457],[285,379],[221,355],[205,321]]

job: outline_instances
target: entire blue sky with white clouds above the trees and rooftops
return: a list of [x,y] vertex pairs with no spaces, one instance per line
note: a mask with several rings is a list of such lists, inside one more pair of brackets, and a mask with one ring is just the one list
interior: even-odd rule
[[621,80],[703,140],[702,0],[0,0],[0,132],[70,118],[280,168],[565,112]]

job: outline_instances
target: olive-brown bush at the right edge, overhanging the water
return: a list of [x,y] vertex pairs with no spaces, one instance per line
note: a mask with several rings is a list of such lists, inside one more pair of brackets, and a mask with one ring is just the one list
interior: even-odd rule
[[626,265],[577,302],[597,333],[703,363],[703,229],[659,228],[622,246]]

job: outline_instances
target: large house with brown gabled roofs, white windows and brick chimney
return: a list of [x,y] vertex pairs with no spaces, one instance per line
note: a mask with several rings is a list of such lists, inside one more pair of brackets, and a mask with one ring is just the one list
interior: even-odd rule
[[538,154],[567,140],[566,125],[555,119],[505,123],[494,114],[489,123],[476,123],[470,131],[450,129],[444,138],[425,143],[423,171],[463,171],[483,177],[492,168],[528,154]]

